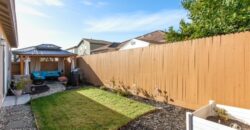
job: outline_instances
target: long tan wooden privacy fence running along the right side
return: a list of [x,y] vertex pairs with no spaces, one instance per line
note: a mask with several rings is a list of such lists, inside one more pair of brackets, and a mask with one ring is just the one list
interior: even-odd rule
[[250,108],[250,32],[79,57],[78,67],[94,85],[190,109],[211,99]]

